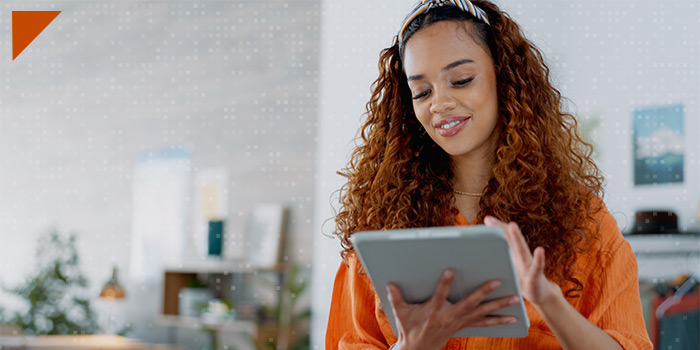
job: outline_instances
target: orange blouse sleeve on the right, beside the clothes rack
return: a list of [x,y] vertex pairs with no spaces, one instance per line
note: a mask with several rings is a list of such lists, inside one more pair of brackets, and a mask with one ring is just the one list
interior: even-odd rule
[[637,259],[606,208],[598,218],[603,246],[600,265],[593,268],[598,297],[589,320],[625,350],[652,349],[642,314]]

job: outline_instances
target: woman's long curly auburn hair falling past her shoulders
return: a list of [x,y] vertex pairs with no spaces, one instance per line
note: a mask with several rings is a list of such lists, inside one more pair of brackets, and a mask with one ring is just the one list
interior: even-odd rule
[[491,53],[498,86],[493,177],[479,201],[477,222],[486,215],[517,222],[531,250],[545,248],[545,274],[567,288],[567,297],[576,297],[583,285],[572,267],[597,240],[591,224],[596,227],[592,218],[600,205],[593,203],[603,196],[603,177],[591,158],[592,146],[577,134],[575,118],[563,111],[541,52],[496,5],[472,3],[486,12],[490,25],[443,6],[413,19],[403,42],[396,36],[382,50],[366,120],[348,166],[338,172],[347,182],[339,190],[333,233],[347,261],[354,232],[454,224],[459,211],[450,158],[414,114],[402,56],[420,28],[463,21]]

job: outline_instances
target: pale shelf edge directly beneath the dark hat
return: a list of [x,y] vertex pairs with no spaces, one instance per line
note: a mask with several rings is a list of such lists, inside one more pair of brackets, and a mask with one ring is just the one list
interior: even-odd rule
[[700,255],[700,235],[625,235],[635,255]]

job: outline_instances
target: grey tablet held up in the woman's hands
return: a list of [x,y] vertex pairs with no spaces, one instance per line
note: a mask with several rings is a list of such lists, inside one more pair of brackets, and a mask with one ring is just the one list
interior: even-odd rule
[[455,337],[526,337],[530,321],[513,269],[503,229],[495,226],[449,226],[357,232],[350,236],[365,271],[379,295],[394,334],[396,321],[386,293],[393,282],[409,303],[430,299],[440,276],[455,272],[448,300],[457,302],[491,279],[502,284],[486,300],[517,295],[520,303],[492,315],[514,316],[516,323],[464,328]]

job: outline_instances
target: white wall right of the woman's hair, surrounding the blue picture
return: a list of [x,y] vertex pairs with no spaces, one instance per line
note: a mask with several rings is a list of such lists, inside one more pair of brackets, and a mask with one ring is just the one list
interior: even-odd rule
[[[620,228],[629,231],[634,211],[645,208],[672,209],[682,228],[697,228],[700,2],[505,4],[545,52],[554,80],[575,105],[573,111],[602,118],[599,165],[608,181],[605,200]],[[685,105],[685,183],[635,187],[632,111],[677,103]]]

